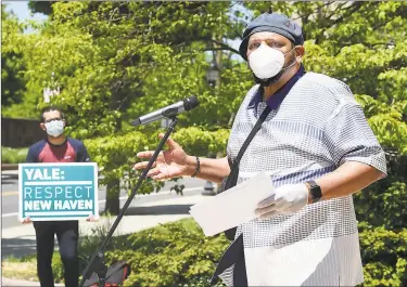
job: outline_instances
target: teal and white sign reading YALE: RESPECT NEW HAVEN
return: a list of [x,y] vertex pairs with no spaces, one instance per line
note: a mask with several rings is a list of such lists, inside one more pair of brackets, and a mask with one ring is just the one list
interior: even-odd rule
[[99,218],[97,164],[20,164],[18,205],[21,221]]

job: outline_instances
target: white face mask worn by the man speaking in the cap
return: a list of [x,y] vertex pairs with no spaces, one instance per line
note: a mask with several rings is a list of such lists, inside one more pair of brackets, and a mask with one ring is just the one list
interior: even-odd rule
[[268,79],[279,74],[284,66],[284,60],[285,55],[280,50],[262,43],[249,55],[249,65],[257,78]]

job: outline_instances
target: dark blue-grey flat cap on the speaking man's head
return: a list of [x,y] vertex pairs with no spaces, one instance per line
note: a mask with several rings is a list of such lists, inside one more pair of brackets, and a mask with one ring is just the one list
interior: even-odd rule
[[288,38],[295,45],[304,44],[303,30],[298,24],[285,15],[267,12],[249,23],[243,32],[243,40],[239,47],[239,52],[245,61],[247,61],[249,38],[259,31],[272,31]]

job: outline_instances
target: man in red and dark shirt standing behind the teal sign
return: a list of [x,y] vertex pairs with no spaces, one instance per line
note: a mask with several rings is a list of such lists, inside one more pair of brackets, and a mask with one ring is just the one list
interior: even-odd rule
[[[26,162],[87,162],[88,152],[82,142],[66,138],[66,120],[61,109],[47,107],[41,113],[40,128],[47,139],[33,144],[28,149]],[[93,221],[88,218],[87,221]],[[23,223],[31,222],[26,218]],[[77,287],[79,281],[78,237],[79,224],[74,221],[34,222],[37,242],[37,272],[41,287],[53,287],[52,255],[56,235],[61,260],[64,265],[66,287]]]

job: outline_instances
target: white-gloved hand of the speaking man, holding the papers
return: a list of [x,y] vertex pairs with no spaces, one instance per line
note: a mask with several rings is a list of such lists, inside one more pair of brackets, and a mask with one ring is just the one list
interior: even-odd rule
[[257,205],[256,216],[260,219],[270,219],[280,213],[296,212],[307,205],[308,193],[308,187],[304,183],[277,187],[274,195]]

